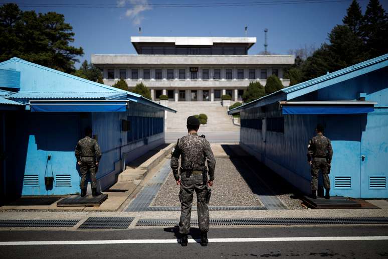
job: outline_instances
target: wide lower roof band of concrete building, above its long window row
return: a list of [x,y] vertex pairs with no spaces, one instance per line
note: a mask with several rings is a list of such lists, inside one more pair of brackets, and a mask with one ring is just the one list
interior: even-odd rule
[[92,54],[94,65],[292,65],[294,55],[110,55]]

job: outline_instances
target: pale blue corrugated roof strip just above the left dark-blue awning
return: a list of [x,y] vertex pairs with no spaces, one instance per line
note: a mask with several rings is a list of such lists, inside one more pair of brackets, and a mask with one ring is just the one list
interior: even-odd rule
[[11,99],[116,99],[126,98],[126,92],[18,92]]

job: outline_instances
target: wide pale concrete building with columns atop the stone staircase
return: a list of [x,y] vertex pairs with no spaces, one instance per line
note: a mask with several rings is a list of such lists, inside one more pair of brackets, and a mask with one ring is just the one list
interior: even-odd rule
[[241,100],[250,81],[265,86],[276,74],[284,86],[284,69],[293,55],[248,55],[256,38],[238,37],[131,37],[136,55],[93,54],[103,69],[104,83],[125,79],[129,88],[143,82],[153,100],[217,101],[229,94]]

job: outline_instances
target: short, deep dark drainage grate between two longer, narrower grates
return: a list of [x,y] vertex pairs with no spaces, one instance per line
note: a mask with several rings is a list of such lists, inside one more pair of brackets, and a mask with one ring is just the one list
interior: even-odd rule
[[90,217],[78,229],[125,229],[134,217]]

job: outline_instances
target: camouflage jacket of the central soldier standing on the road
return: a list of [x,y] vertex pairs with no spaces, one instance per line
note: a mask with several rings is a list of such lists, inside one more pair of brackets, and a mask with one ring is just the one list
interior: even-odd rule
[[171,169],[175,180],[179,179],[179,156],[181,156],[180,167],[183,170],[203,170],[205,161],[208,161],[209,180],[214,180],[216,160],[209,142],[197,134],[189,134],[182,137],[171,156]]

